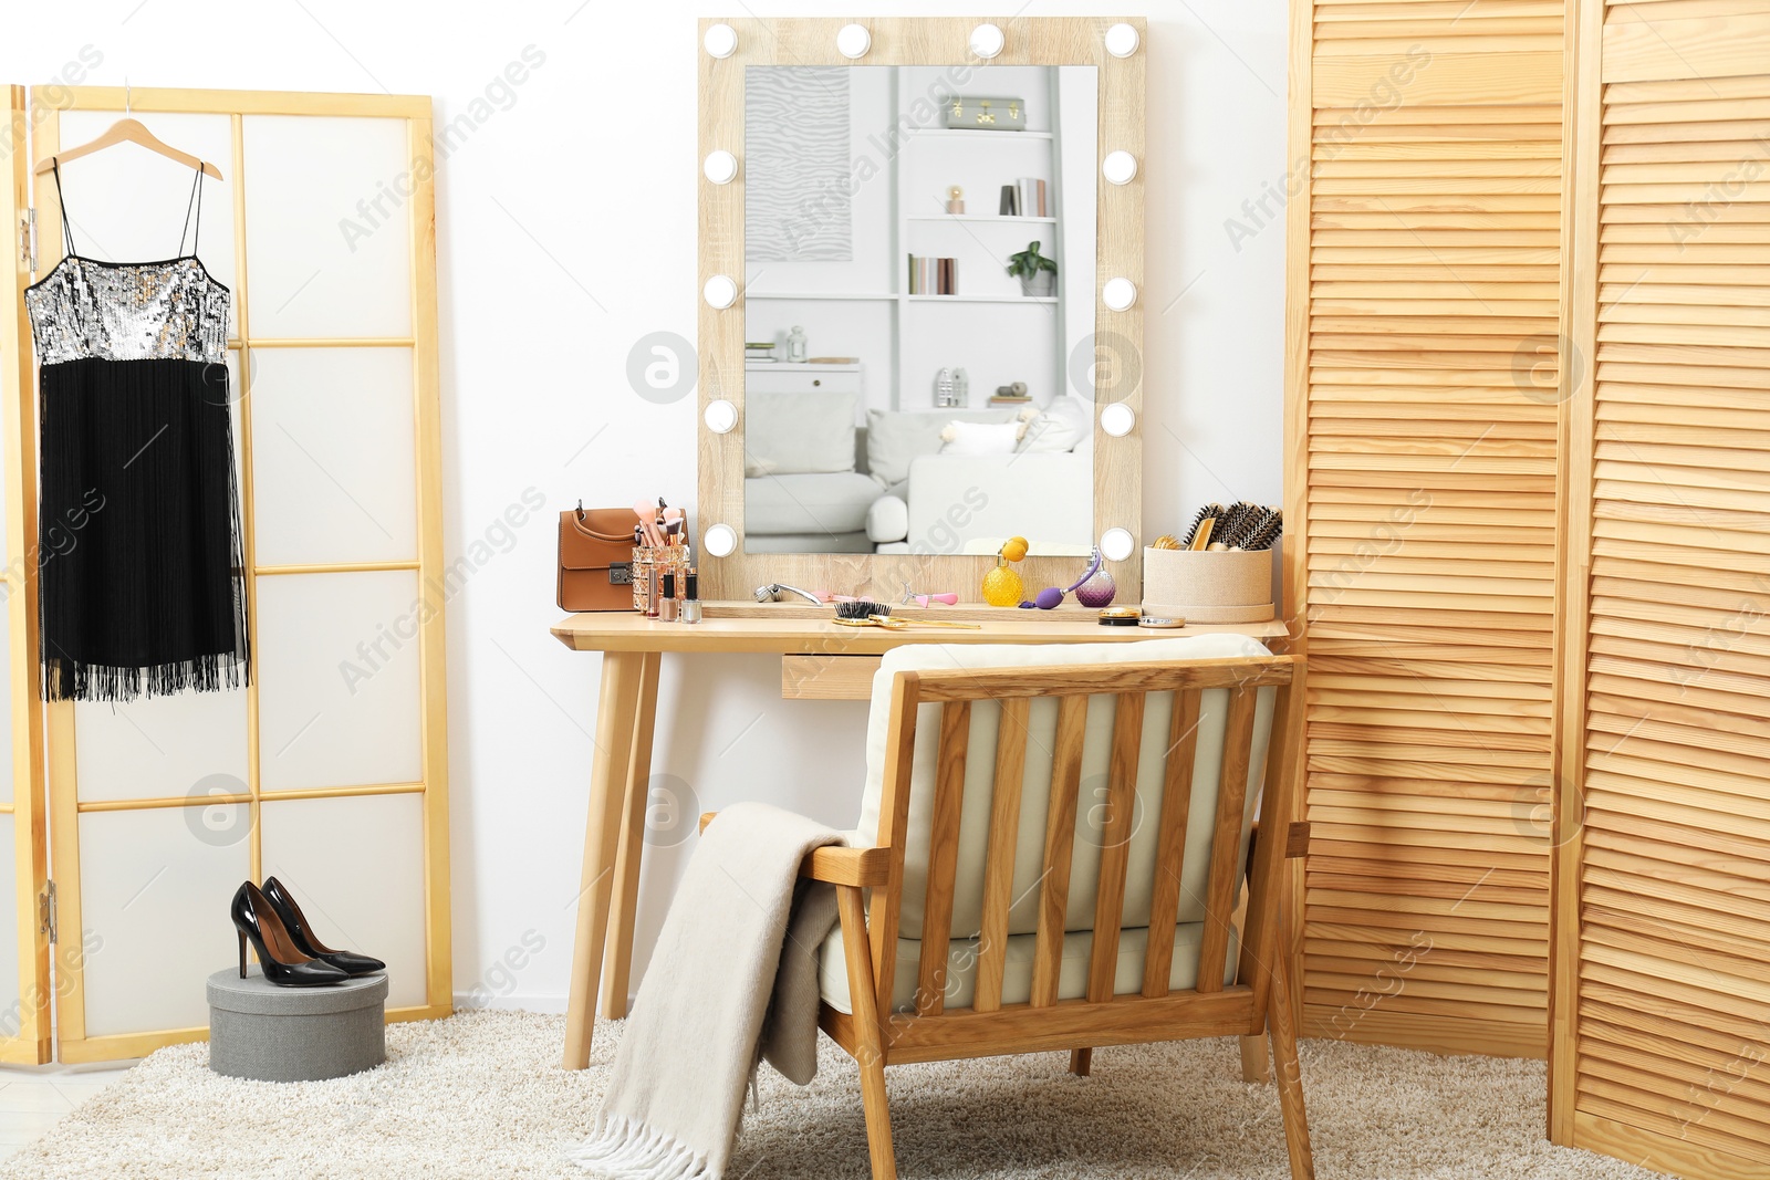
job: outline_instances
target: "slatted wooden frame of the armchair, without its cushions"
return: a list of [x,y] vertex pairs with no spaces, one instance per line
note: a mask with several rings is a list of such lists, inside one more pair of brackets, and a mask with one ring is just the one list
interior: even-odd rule
[[[1303,662],[1290,656],[1246,656],[1191,662],[1103,662],[1053,667],[1002,667],[965,670],[901,670],[890,690],[885,725],[885,775],[880,807],[878,851],[889,854],[881,886],[873,888],[860,929],[862,890],[843,892],[843,938],[848,946],[853,1014],[825,1005],[823,1026],[862,1067],[862,1090],[873,1145],[874,1176],[894,1176],[890,1122],[885,1107],[883,1067],[903,1061],[952,1060],[1002,1053],[1071,1049],[1071,1069],[1085,1074],[1096,1046],[1140,1044],[1230,1033],[1258,1035],[1271,1026],[1278,1083],[1285,1097],[1285,1132],[1296,1176],[1312,1175],[1308,1129],[1303,1123],[1301,1084],[1296,1067],[1294,1026],[1274,1005],[1289,1005],[1285,946],[1280,938],[1280,897],[1285,890],[1287,847],[1294,837],[1290,816],[1296,803],[1292,750],[1301,727]],[[1271,734],[1257,732],[1260,690],[1276,690]],[[1204,693],[1225,690],[1221,713],[1223,757],[1218,771],[1216,805],[1211,814],[1193,814],[1193,768],[1198,754]],[[1131,837],[1138,823],[1136,789],[1142,762],[1152,748],[1145,743],[1150,693],[1174,693],[1168,709],[1159,775],[1159,814],[1154,840],[1154,879],[1149,890],[1147,950],[1135,989],[1120,991],[1120,950],[1126,892],[1133,872]],[[1083,747],[1089,699],[1113,697],[1106,782],[1081,798]],[[1021,842],[1023,810],[1028,801],[1025,770],[1034,702],[1055,699],[1050,731],[1050,794],[1044,810],[1041,863],[1035,881],[1037,922],[1032,943],[1030,998],[1005,1003],[1011,909],[1018,856],[1030,854]],[[915,966],[915,998],[894,1010],[899,931],[904,900],[904,849],[910,823],[917,718],[922,706],[938,702],[933,801],[927,808],[929,842],[922,893],[920,954]],[[995,748],[975,748],[972,718],[975,702],[997,702],[1000,724]],[[1212,731],[1214,732],[1214,731]],[[1253,839],[1251,865],[1243,858],[1248,780],[1264,743],[1264,778],[1257,784],[1266,833]],[[1043,752],[1041,752],[1043,754]],[[974,909],[975,985],[966,1008],[949,1007],[954,945],[954,906],[959,892],[961,819],[965,816],[966,766],[981,759],[993,768],[988,833],[982,842],[981,909]],[[926,775],[926,771],[924,771]],[[926,778],[924,778],[926,782]],[[974,784],[979,778],[972,778]],[[926,787],[924,787],[926,789]],[[1097,886],[1094,892],[1087,982],[1081,994],[1064,978],[1066,936],[1078,931],[1069,915],[1076,860],[1078,805],[1101,798],[1104,821]],[[919,805],[920,807],[920,805]],[[974,816],[981,814],[974,808]],[[1037,812],[1030,812],[1032,823]],[[1209,824],[1209,870],[1205,874],[1198,931],[1197,980],[1174,987],[1175,929],[1182,902],[1197,913],[1198,899],[1182,899],[1182,869],[1191,824]],[[1090,833],[1094,830],[1090,828]],[[1193,842],[1195,854],[1198,840]],[[974,856],[977,853],[972,853]],[[1246,874],[1244,874],[1246,869]],[[1243,897],[1243,881],[1248,890]],[[1083,883],[1085,886],[1085,883]],[[1080,893],[1087,897],[1087,893]],[[977,916],[981,915],[981,916]],[[1239,918],[1239,923],[1237,923]],[[1140,918],[1138,918],[1140,920]],[[1136,925],[1138,920],[1133,920]],[[1027,927],[1021,927],[1027,929]],[[1239,934],[1241,954],[1230,975],[1230,946]],[[970,939],[968,931],[959,938]],[[912,938],[915,934],[912,932]],[[1025,977],[1023,977],[1025,978]],[[1225,984],[1225,978],[1234,982]],[[1023,984],[1025,985],[1025,984]]]

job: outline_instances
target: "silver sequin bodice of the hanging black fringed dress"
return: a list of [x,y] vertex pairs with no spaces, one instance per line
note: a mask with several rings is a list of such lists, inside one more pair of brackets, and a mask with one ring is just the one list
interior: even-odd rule
[[227,361],[228,288],[195,257],[97,262],[71,255],[25,292],[39,364]]

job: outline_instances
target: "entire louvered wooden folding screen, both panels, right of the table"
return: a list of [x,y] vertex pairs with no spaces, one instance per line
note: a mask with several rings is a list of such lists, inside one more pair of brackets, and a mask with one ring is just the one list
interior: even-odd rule
[[1770,11],[1292,34],[1304,1030],[1547,1049],[1556,1141],[1763,1176]]

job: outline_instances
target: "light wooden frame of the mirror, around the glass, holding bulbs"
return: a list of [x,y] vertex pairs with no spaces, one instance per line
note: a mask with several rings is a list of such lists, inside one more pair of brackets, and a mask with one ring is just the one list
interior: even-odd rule
[[[860,23],[873,35],[866,57],[850,60],[835,48],[835,34]],[[977,25],[993,23],[1007,35],[1002,53],[979,58],[970,51]],[[715,58],[704,48],[706,30],[729,25],[738,34],[731,57]],[[1131,25],[1138,48],[1129,57],[1106,51],[1106,30]],[[1143,55],[1149,35],[1143,18],[706,18],[694,51],[699,58],[699,159],[726,150],[738,157],[738,177],[713,184],[696,175],[701,191],[699,280],[699,520],[697,540],[715,524],[738,531],[738,548],[727,557],[697,554],[703,598],[747,600],[768,582],[867,594],[897,601],[903,584],[922,593],[958,591],[961,601],[981,600],[984,571],[993,556],[968,554],[745,554],[743,552],[743,78],[747,65],[1094,65],[1099,73],[1099,134],[1096,143],[1096,267],[1094,334],[1099,370],[1108,377],[1094,391],[1094,538],[1112,527],[1129,529],[1138,545],[1126,561],[1106,568],[1120,586],[1120,600],[1135,601],[1143,586],[1143,308],[1142,299],[1112,311],[1099,297],[1110,278],[1127,278],[1143,290]],[[1131,152],[1138,175],[1129,184],[1108,184],[1099,161],[1108,152]],[[729,308],[712,308],[701,295],[717,274],[738,285]],[[1103,343],[1104,341],[1104,343]],[[1097,373],[1099,377],[1099,373]],[[738,428],[713,433],[704,414],[710,402],[738,407]],[[1124,437],[1099,428],[1099,407],[1124,402],[1136,426]],[[1028,533],[1034,533],[1028,527]],[[1044,586],[1067,586],[1081,571],[1080,557],[1028,557],[1020,563],[1028,594]]]

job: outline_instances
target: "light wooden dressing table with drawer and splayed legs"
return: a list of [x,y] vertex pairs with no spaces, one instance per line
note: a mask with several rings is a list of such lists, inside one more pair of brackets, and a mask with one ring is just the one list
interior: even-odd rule
[[[908,619],[922,614],[910,607],[894,607],[892,612]],[[584,1069],[589,1063],[598,977],[602,1014],[627,1015],[658,667],[666,651],[779,655],[782,697],[866,701],[871,697],[873,672],[880,656],[903,644],[1090,644],[1227,632],[1251,635],[1280,647],[1287,639],[1285,624],[1280,621],[1147,630],[1101,626],[1096,612],[1080,607],[1060,607],[1051,612],[954,607],[935,609],[929,617],[981,619],[982,626],[975,632],[947,626],[901,632],[848,628],[830,621],[828,607],[710,601],[706,619],[692,626],[628,612],[602,612],[573,614],[552,628],[559,642],[573,651],[604,653],[596,752],[589,775],[589,819],[584,828],[584,870],[572,948],[572,991],[566,1005],[566,1069]]]

